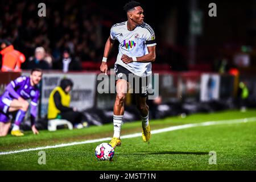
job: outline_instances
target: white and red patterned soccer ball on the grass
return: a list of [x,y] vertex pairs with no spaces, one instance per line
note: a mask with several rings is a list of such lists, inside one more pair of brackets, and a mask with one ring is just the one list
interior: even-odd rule
[[114,148],[109,143],[101,143],[95,149],[95,156],[98,160],[112,160]]

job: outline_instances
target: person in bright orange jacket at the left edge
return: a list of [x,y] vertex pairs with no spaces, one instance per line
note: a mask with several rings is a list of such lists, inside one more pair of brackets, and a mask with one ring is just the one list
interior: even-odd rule
[[2,55],[2,72],[20,72],[20,66],[26,60],[23,53],[14,49],[13,45],[8,40],[0,40],[1,55]]

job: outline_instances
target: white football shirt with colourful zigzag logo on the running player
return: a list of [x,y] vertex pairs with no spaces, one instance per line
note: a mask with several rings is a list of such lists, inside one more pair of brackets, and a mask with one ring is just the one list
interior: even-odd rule
[[132,62],[123,63],[121,57],[123,54],[129,57],[141,57],[148,54],[147,47],[155,46],[155,33],[147,23],[138,25],[133,31],[127,29],[127,21],[114,24],[110,30],[110,38],[118,40],[119,52],[116,65],[125,67],[137,76],[148,76],[152,73],[151,63]]

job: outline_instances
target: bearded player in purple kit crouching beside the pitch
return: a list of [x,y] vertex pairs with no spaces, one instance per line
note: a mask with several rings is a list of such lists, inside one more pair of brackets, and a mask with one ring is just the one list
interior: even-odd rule
[[6,136],[10,126],[10,114],[18,110],[11,135],[23,136],[19,125],[23,121],[28,110],[28,101],[31,99],[31,129],[34,134],[39,134],[35,127],[38,99],[40,96],[38,84],[42,79],[41,69],[32,69],[29,77],[21,76],[11,81],[6,86],[5,92],[0,96],[0,137]]

